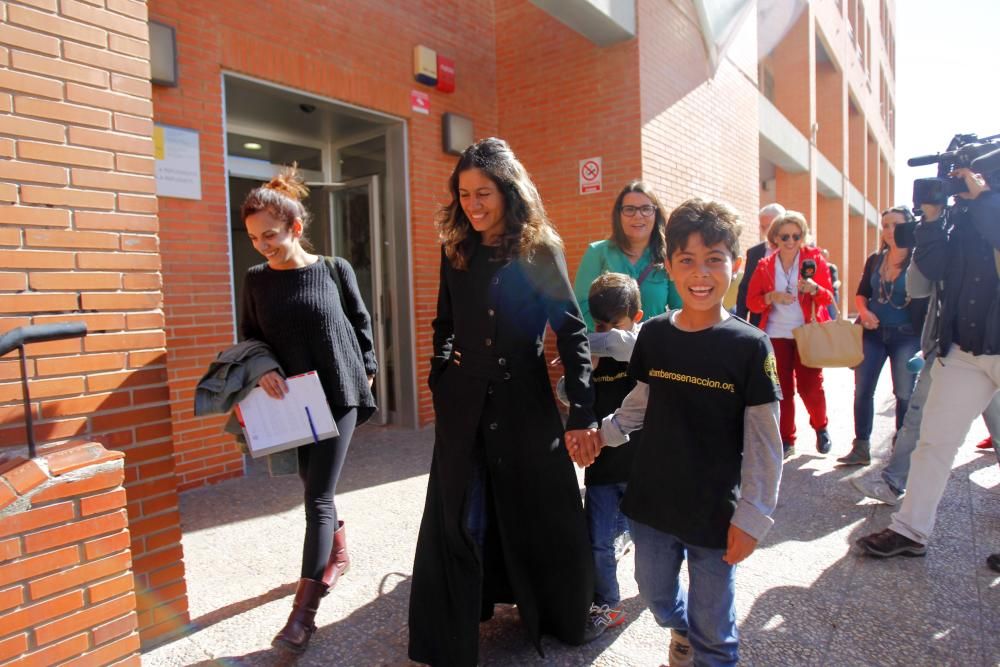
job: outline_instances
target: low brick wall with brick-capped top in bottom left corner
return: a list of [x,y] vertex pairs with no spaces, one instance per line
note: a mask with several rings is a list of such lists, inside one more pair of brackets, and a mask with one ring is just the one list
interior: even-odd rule
[[3,664],[139,665],[123,457],[79,443],[0,463]]

